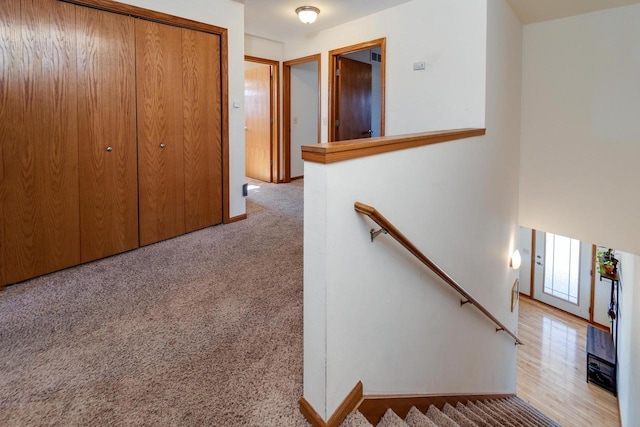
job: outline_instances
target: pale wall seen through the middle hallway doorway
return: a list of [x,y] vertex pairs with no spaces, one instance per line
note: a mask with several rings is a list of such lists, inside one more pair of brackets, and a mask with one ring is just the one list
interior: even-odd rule
[[291,67],[291,177],[304,175],[303,145],[318,143],[318,62]]

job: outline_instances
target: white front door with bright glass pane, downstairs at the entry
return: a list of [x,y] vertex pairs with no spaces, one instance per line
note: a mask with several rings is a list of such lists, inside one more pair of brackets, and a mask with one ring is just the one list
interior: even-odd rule
[[591,245],[535,232],[533,298],[589,320]]

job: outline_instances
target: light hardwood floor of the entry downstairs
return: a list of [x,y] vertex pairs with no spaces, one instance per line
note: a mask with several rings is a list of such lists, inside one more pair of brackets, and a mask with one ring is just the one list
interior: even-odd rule
[[520,298],[517,394],[563,427],[620,426],[618,399],[586,382],[587,322]]

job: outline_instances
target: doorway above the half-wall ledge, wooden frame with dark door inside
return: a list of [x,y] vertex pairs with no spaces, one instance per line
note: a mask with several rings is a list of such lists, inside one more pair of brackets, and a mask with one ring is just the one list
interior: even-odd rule
[[386,39],[329,52],[329,141],[384,136]]

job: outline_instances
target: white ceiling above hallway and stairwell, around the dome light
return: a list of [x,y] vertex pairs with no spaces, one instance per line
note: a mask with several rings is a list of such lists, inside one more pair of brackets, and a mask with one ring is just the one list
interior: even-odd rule
[[[234,0],[245,5],[245,33],[270,40],[310,37],[313,33],[413,0]],[[428,1],[428,0],[415,0]],[[524,24],[565,18],[640,0],[507,0]],[[299,6],[320,9],[318,20],[303,24]]]

